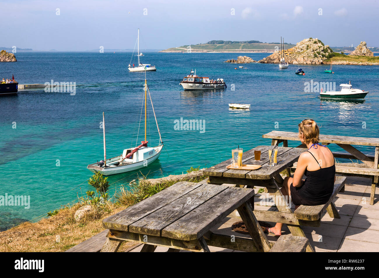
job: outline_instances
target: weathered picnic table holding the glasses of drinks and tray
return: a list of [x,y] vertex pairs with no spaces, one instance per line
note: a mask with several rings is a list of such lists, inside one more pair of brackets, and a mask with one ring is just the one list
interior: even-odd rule
[[[255,217],[262,221],[285,223],[293,236],[305,237],[300,225],[319,226],[320,220],[303,221],[302,219],[296,219],[279,189],[283,185],[283,178],[280,172],[293,165],[305,150],[301,148],[278,147],[277,165],[268,166],[269,147],[271,146],[258,146],[243,153],[242,163],[262,165],[257,170],[227,169],[226,166],[232,163],[232,159],[230,158],[218,165],[205,169],[204,175],[209,176],[209,183],[229,183],[237,186],[247,185],[249,187],[265,186],[267,192],[273,197],[279,212],[254,210]],[[260,161],[255,161],[254,159],[254,151],[256,149],[261,150]],[[309,243],[307,245],[307,252],[314,252]]]

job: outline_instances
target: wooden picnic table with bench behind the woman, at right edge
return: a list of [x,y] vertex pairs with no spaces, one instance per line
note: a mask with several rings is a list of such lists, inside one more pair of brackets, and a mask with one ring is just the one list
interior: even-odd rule
[[[262,135],[263,138],[271,139],[271,144],[276,145],[283,143],[284,147],[288,146],[288,140],[299,141],[298,132],[286,132],[273,130],[267,134]],[[379,179],[378,159],[379,159],[379,138],[366,138],[366,137],[351,137],[351,136],[335,136],[335,135],[319,135],[321,144],[337,144],[348,153],[333,152],[336,158],[357,159],[365,163],[368,168],[354,167],[354,166],[341,166],[336,165],[336,172],[345,175],[362,175],[372,178],[370,205],[374,204],[375,188]],[[375,147],[374,155],[365,155],[351,145],[358,146],[373,146]],[[304,144],[300,144],[298,148],[305,148]],[[293,167],[296,168],[296,163]],[[290,169],[287,169],[287,175],[290,175]]]

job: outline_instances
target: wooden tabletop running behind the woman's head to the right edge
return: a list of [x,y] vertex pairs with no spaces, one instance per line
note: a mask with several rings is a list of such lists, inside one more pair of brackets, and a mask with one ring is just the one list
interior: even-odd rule
[[[273,130],[267,134],[262,135],[262,137],[270,138],[270,139],[300,141],[298,135],[299,135],[298,132]],[[323,142],[323,143],[350,144],[350,145],[360,145],[360,146],[379,146],[379,138],[320,134],[319,139],[320,139],[320,142]]]

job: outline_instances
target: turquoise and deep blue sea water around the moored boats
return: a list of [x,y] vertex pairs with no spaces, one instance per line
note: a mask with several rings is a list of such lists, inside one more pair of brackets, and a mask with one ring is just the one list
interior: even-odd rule
[[[144,54],[143,62],[158,69],[147,73],[147,82],[167,150],[141,169],[150,178],[215,165],[229,158],[238,145],[248,150],[270,144],[262,134],[278,125],[278,130],[296,132],[304,118],[316,120],[323,134],[378,137],[378,66],[335,65],[331,75],[324,73],[325,65],[302,65],[305,76],[297,76],[295,65],[279,70],[272,64],[247,64],[247,69],[239,69],[223,63],[238,53]],[[14,74],[20,84],[53,79],[76,82],[77,87],[73,96],[41,89],[0,98],[0,196],[30,195],[29,209],[0,206],[0,230],[59,208],[89,189],[86,180],[91,172],[86,166],[103,158],[99,128],[103,111],[107,156],[136,145],[145,76],[127,70],[131,53],[19,52],[16,56],[18,62],[0,64],[0,78]],[[267,54],[247,56],[259,60]],[[224,78],[227,89],[183,91],[179,82],[191,68],[200,76]],[[354,88],[370,93],[361,103],[321,101],[318,93],[304,92],[304,82],[311,79],[336,82],[337,87],[351,80]],[[230,111],[228,103],[249,103],[251,110]],[[174,121],[180,118],[203,120],[205,132],[175,130]],[[147,139],[155,146],[159,137],[152,113],[149,123]],[[137,143],[143,139],[141,129]],[[373,154],[373,148],[359,149]],[[137,173],[110,176],[110,195]]]

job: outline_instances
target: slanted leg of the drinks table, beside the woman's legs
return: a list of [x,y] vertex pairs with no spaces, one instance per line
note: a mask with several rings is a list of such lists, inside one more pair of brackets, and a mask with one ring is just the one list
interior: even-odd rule
[[[280,212],[292,213],[292,210],[291,210],[291,208],[289,208],[287,206],[285,198],[284,198],[282,192],[280,191],[276,181],[274,179],[273,179],[273,181],[274,181],[276,187],[275,188],[268,187],[267,192],[270,193],[271,197],[274,199],[275,205]],[[287,227],[290,230],[292,235],[306,237],[304,234],[304,231],[300,228],[299,225],[287,224]],[[306,250],[307,250],[307,252],[315,252],[315,250],[313,250],[313,247],[310,245],[309,242],[308,242]]]

